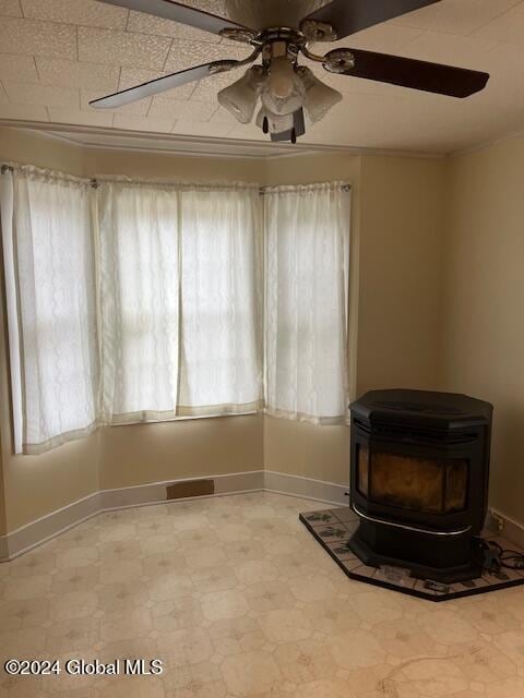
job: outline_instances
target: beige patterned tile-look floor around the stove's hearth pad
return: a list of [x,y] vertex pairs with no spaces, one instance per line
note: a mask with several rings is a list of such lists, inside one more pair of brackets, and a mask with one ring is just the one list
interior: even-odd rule
[[434,604],[348,579],[270,493],[94,518],[0,565],[0,657],[158,658],[2,698],[521,698],[524,589]]

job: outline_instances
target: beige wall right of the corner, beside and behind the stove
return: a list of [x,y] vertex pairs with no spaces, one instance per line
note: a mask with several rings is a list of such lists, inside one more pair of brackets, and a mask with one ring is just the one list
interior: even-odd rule
[[453,158],[444,386],[495,405],[490,504],[524,525],[524,136]]

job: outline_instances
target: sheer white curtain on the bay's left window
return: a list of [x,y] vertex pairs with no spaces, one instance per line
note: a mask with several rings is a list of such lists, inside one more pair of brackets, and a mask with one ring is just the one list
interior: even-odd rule
[[1,178],[15,453],[97,421],[98,353],[88,181],[32,167]]

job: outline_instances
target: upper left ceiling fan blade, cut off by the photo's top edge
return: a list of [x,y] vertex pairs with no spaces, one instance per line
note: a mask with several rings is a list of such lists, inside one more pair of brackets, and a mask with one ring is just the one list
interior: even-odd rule
[[189,24],[189,26],[194,26],[212,34],[219,34],[223,29],[248,28],[226,17],[189,8],[181,2],[174,2],[174,0],[102,0],[102,2],[135,10],[136,12],[145,12],[164,20],[174,20],[175,22],[180,22],[180,24]]

